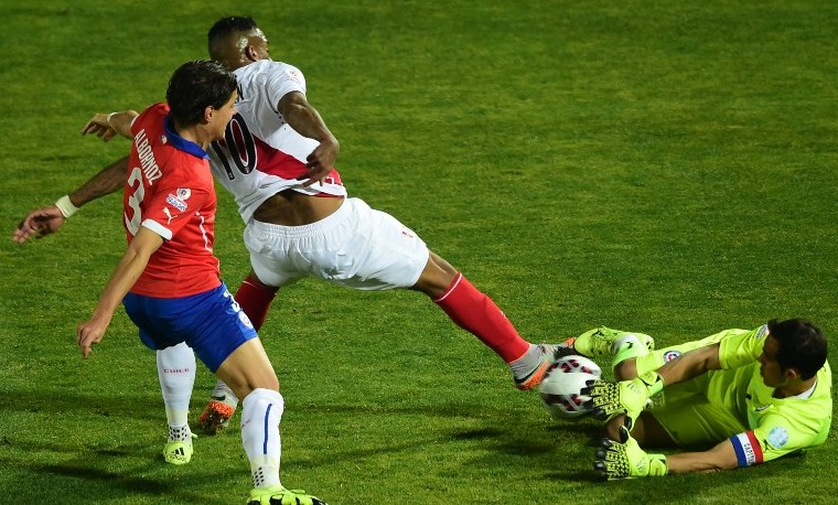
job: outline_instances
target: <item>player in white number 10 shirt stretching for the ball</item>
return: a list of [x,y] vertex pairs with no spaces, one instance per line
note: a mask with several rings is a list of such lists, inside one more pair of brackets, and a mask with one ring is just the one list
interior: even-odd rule
[[[236,197],[247,224],[253,271],[236,301],[258,329],[280,287],[311,276],[353,289],[411,289],[427,294],[458,325],[491,347],[519,389],[537,386],[555,346],[522,339],[501,309],[456,268],[389,214],[350,198],[334,169],[339,143],[305,98],[302,73],[273,62],[268,40],[250,18],[225,18],[208,33],[213,60],[234,71],[243,96],[224,140],[210,150],[218,182]],[[112,132],[97,131],[105,140]],[[118,176],[118,163],[57,202],[69,215]],[[37,214],[41,212],[41,214]],[[31,213],[15,240],[52,232],[58,208]],[[298,256],[286,249],[308,244]],[[305,268],[298,267],[307,265]],[[223,382],[201,416],[214,432],[238,401]]]

